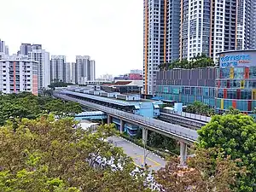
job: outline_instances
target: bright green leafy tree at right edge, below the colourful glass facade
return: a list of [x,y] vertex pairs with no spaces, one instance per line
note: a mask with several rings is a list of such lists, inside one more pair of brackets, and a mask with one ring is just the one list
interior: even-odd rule
[[209,124],[198,131],[199,148],[221,148],[238,166],[246,166],[249,173],[240,176],[238,191],[256,191],[256,124],[244,114],[215,115]]

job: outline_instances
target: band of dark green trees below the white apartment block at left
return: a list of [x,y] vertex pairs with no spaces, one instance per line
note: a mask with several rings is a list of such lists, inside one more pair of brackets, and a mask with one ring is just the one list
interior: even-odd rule
[[36,119],[42,113],[55,113],[60,117],[82,112],[76,102],[62,102],[49,96],[34,96],[29,92],[0,96],[0,125],[10,118]]

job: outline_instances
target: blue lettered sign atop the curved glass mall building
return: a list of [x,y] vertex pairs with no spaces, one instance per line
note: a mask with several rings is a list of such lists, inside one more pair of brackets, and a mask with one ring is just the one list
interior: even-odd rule
[[251,55],[220,55],[220,67],[247,66],[251,63]]

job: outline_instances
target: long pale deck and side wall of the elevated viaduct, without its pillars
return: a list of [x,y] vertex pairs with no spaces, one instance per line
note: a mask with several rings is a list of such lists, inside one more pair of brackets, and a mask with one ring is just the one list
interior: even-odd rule
[[60,97],[62,99],[67,99],[73,102],[79,102],[80,104],[88,106],[90,108],[96,108],[110,115],[135,122],[138,125],[148,126],[155,130],[164,131],[167,134],[171,134],[172,136],[182,138],[189,142],[195,142],[198,137],[197,132],[195,130],[188,129],[180,125],[173,125],[158,119],[143,117],[137,114],[120,111],[118,109],[108,108],[96,103],[86,102],[86,101],[74,98],[72,96],[66,96],[62,94],[54,94],[54,96]]

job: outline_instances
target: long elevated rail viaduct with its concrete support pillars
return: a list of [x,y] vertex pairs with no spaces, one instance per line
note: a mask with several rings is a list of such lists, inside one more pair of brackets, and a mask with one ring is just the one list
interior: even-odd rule
[[[180,142],[180,160],[183,165],[187,158],[187,145],[196,142],[198,134],[195,130],[164,122],[159,119],[147,118],[134,113],[125,112],[119,109],[84,100],[84,93],[73,91],[54,91],[54,96],[66,101],[79,102],[82,106],[93,108],[108,115],[108,124],[112,123],[112,118],[120,119],[120,132],[124,130],[125,122],[138,125],[143,128],[143,143],[148,140],[148,130],[160,133],[166,137],[172,137]],[[85,96],[86,97],[86,96]]]

